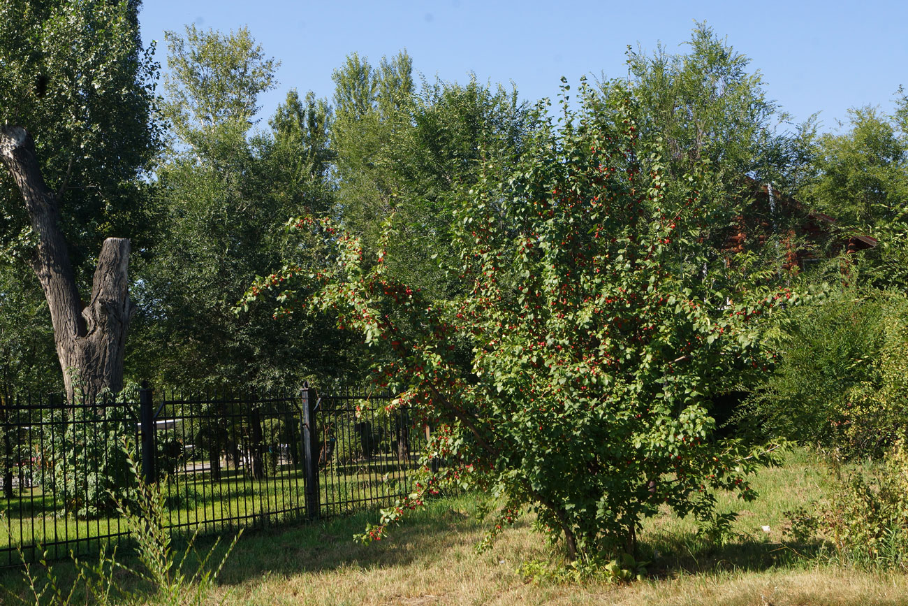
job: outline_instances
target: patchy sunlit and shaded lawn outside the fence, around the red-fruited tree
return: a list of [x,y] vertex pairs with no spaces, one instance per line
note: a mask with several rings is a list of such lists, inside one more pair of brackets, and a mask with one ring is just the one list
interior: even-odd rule
[[[723,545],[697,539],[688,520],[648,521],[642,549],[657,553],[651,579],[616,586],[527,582],[517,570],[551,551],[524,516],[491,551],[476,498],[433,502],[389,539],[363,546],[350,536],[372,513],[290,529],[249,531],[232,553],[212,603],[227,604],[908,604],[908,576],[840,566],[817,545],[782,542],[785,510],[823,499],[827,473],[803,453],[761,472],[756,502],[725,502],[740,516]],[[767,533],[763,526],[768,526]],[[60,580],[72,566],[57,567]],[[0,576],[23,591],[17,572]]]

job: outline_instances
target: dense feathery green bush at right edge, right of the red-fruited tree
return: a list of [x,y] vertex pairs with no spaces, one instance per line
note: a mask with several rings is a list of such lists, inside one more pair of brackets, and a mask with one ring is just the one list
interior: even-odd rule
[[770,434],[882,456],[908,426],[908,300],[847,290],[793,313],[782,362],[746,410]]

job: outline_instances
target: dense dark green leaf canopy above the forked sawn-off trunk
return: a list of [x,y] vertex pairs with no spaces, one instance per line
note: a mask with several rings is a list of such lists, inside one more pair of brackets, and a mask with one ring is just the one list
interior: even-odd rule
[[[139,178],[158,149],[153,48],[136,0],[9,0],[0,4],[0,120],[35,139],[44,181],[61,199],[76,272],[90,280],[104,238],[142,251],[152,209]],[[22,196],[0,173],[0,246],[27,259],[34,235]]]

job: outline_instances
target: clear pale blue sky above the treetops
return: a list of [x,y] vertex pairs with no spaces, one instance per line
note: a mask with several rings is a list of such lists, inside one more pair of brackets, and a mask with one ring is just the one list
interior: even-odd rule
[[[908,88],[908,2],[681,2],[625,0],[144,0],[146,44],[194,23],[228,31],[248,25],[266,55],[281,61],[279,86],[262,97],[267,118],[292,87],[331,98],[331,72],[352,52],[375,65],[407,49],[419,73],[464,82],[513,81],[521,97],[558,94],[559,78],[627,75],[627,45],[670,51],[696,21],[752,59],[766,91],[801,121],[821,112],[834,130],[849,107],[892,109]],[[680,50],[683,50],[680,49]]]

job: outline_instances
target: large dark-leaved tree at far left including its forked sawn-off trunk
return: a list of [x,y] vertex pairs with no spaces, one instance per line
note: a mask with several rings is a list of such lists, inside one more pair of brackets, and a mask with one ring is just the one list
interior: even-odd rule
[[70,396],[120,389],[130,241],[110,236],[141,250],[152,233],[141,177],[156,147],[157,65],[139,4],[0,6],[0,243],[41,284]]

